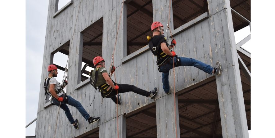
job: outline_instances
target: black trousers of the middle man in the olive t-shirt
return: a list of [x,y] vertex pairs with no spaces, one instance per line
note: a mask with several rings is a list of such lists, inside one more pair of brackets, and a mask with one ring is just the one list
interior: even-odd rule
[[[139,95],[142,95],[142,96],[150,96],[151,92],[149,91],[145,91],[145,90],[142,90],[134,85],[129,85],[129,84],[119,84],[117,83],[117,85],[119,86],[119,89],[118,89],[118,93],[125,93],[125,92],[129,92],[129,91],[133,91],[134,93],[137,93]],[[116,103],[116,90],[112,90],[111,91],[111,94],[106,96],[106,98],[111,98],[115,103]]]

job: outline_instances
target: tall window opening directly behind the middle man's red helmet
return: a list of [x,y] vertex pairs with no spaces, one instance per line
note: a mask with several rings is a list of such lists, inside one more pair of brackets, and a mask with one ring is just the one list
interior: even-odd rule
[[84,29],[83,34],[83,49],[81,62],[81,80],[83,82],[89,79],[91,70],[95,68],[93,59],[96,56],[102,56],[102,37],[103,37],[103,17]]

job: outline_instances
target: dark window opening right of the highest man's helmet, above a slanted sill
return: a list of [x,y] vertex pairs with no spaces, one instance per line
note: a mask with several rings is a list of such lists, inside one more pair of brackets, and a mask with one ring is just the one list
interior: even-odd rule
[[207,0],[172,0],[174,29],[208,11]]

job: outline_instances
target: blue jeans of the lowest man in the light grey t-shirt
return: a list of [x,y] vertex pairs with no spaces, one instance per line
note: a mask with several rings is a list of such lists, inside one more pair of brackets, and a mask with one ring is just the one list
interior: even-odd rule
[[[63,97],[63,95],[59,96],[59,97]],[[56,98],[52,99],[52,102],[54,105],[59,106],[60,101],[58,101]],[[78,109],[78,111],[80,112],[80,114],[86,119],[86,121],[90,118],[90,115],[86,112],[86,110],[83,108],[83,106],[79,103],[79,101],[74,100],[74,98],[72,98],[71,96],[68,96],[68,105],[74,106],[76,109]],[[67,116],[67,118],[69,119],[70,123],[73,124],[75,123],[74,118],[70,112],[69,107],[65,104],[65,102],[61,102],[60,108],[63,109],[65,111],[65,115]]]

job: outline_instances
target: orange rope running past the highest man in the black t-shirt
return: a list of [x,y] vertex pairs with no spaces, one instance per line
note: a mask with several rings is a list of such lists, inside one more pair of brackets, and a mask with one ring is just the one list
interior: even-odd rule
[[[171,1],[172,0],[169,0],[169,17],[168,17],[167,28],[169,28],[169,22],[170,22]],[[169,28],[169,32],[171,34],[171,39],[173,40],[173,35],[172,35],[172,32],[171,32],[170,28]],[[174,47],[173,47],[173,51],[174,51]],[[178,137],[178,130],[177,130],[177,115],[176,115],[175,62],[174,62],[174,57],[173,57],[173,74],[174,74],[174,114],[175,114],[175,128],[176,128],[176,138],[177,138]]]

